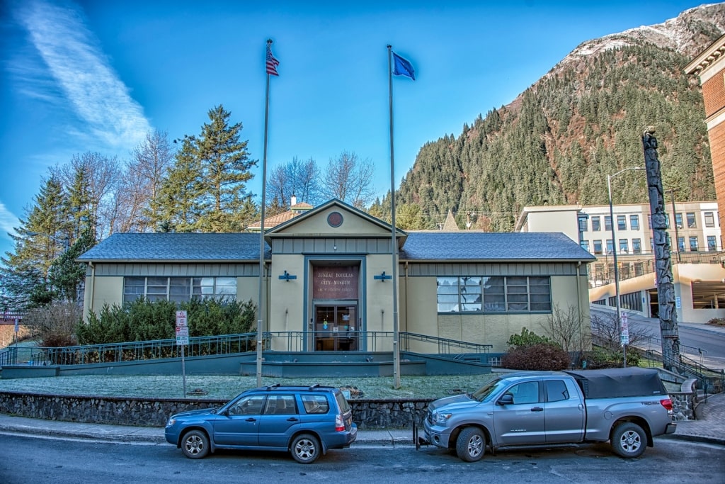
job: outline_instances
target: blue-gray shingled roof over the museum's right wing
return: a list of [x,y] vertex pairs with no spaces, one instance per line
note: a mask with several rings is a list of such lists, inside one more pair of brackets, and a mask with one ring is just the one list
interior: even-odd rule
[[560,233],[408,232],[403,260],[595,261],[594,255]]

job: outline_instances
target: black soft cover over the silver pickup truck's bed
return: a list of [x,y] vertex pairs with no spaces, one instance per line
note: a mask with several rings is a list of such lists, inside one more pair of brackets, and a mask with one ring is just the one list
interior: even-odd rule
[[656,369],[610,368],[567,370],[584,393],[584,398],[641,397],[667,395]]

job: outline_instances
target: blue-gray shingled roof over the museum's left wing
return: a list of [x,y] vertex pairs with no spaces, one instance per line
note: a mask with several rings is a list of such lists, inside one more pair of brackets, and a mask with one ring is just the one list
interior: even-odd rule
[[[265,259],[271,249],[265,244]],[[78,261],[259,261],[260,234],[113,234]]]

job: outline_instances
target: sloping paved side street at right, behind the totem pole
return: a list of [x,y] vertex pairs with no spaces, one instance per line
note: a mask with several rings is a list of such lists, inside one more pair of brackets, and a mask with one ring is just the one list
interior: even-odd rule
[[[592,315],[595,314],[611,316],[613,313],[592,308]],[[629,327],[630,331],[644,329],[652,337],[648,343],[651,349],[661,351],[659,319],[629,315]],[[725,369],[725,327],[679,322],[678,330],[680,352],[684,356],[711,369]]]

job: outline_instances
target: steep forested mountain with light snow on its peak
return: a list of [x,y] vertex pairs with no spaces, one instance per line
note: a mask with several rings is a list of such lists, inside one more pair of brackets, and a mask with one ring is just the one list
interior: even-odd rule
[[[450,210],[460,228],[489,231],[512,230],[524,206],[605,204],[607,175],[643,165],[647,126],[665,188],[679,201],[714,200],[703,97],[684,67],[724,31],[725,4],[711,4],[584,42],[510,104],[423,146],[397,204],[420,208],[418,228]],[[637,171],[613,179],[612,190],[615,203],[648,200]]]

